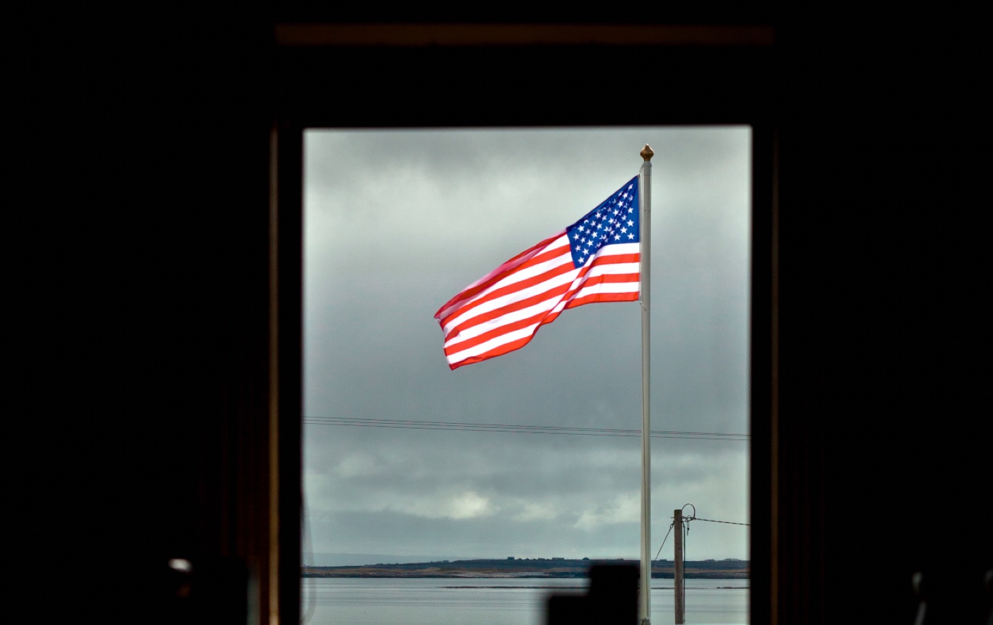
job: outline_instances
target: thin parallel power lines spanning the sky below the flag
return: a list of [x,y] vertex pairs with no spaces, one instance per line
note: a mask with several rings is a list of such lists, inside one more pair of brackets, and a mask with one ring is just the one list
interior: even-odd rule
[[[640,430],[617,428],[571,428],[561,426],[524,426],[508,424],[475,424],[404,419],[356,419],[348,417],[304,417],[304,423],[318,426],[349,426],[355,428],[392,428],[402,430],[448,430],[461,432],[498,432],[503,434],[542,434],[573,437],[640,437]],[[681,432],[652,430],[651,438],[695,438],[701,440],[744,440],[751,435],[723,432]]]

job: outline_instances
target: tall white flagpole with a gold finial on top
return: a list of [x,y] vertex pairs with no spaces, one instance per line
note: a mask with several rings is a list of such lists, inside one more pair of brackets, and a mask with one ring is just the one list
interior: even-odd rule
[[641,298],[641,573],[638,591],[638,621],[651,624],[651,415],[648,402],[650,387],[649,294],[651,284],[651,157],[654,152],[644,144],[641,149],[641,249],[639,293]]

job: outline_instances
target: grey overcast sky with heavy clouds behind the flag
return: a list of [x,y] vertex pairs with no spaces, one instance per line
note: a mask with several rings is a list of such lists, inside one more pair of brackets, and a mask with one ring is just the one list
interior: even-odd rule
[[[455,371],[434,313],[638,175],[645,143],[652,430],[747,435],[748,127],[306,133],[305,563],[638,559],[638,436],[367,426],[640,430],[638,303]],[[684,504],[749,522],[746,437],[651,445],[652,556]],[[694,522],[686,557],[747,559],[748,527]]]

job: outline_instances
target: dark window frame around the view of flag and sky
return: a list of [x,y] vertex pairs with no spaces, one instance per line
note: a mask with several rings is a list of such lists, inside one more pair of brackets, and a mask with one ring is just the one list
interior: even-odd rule
[[[305,129],[746,124],[753,130],[750,612],[752,622],[769,622],[775,611],[776,536],[772,28],[667,31],[649,26],[625,31],[591,25],[572,39],[562,39],[554,28],[535,31],[516,25],[479,32],[470,28],[468,35],[452,41],[446,37],[457,31],[449,28],[383,30],[276,27],[270,306],[277,312],[279,393],[273,427],[279,440],[279,492],[301,490]],[[598,33],[598,43],[586,43]],[[454,74],[456,57],[474,73]],[[607,81],[620,71],[643,72],[643,101],[604,103],[585,90],[591,81]],[[522,97],[525,90],[536,95]],[[279,497],[275,581],[278,611],[285,622],[300,617],[300,512],[298,499]]]

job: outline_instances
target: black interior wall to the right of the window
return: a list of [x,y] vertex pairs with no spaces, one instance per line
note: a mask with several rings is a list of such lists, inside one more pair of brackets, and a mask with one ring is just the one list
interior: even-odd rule
[[991,437],[978,417],[990,379],[978,40],[940,22],[782,37],[780,524],[801,573],[786,587],[803,601],[791,609],[912,622],[922,570],[941,595],[928,622],[980,622]]

